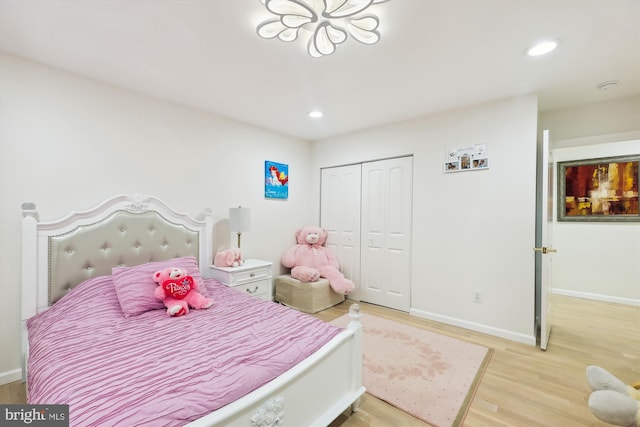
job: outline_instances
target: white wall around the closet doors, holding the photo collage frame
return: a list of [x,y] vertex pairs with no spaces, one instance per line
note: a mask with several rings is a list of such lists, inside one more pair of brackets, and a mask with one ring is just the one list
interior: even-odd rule
[[[535,344],[537,114],[527,96],[313,144],[314,170],[413,154],[412,314]],[[443,173],[447,148],[479,143],[489,170]]]

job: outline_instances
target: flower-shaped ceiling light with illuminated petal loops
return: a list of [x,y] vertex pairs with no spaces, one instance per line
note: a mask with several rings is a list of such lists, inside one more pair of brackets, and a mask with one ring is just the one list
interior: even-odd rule
[[380,40],[380,20],[369,7],[389,0],[260,0],[276,16],[258,25],[260,37],[290,42],[309,35],[314,58],[331,55],[348,36],[364,44]]

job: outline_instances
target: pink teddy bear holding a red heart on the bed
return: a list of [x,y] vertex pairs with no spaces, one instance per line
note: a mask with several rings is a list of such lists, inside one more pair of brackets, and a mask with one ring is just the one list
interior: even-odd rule
[[213,299],[206,298],[198,292],[200,284],[187,275],[187,270],[184,268],[168,267],[156,271],[153,274],[153,281],[160,285],[155,290],[155,296],[167,307],[169,316],[187,314],[189,307],[201,309],[213,305]]

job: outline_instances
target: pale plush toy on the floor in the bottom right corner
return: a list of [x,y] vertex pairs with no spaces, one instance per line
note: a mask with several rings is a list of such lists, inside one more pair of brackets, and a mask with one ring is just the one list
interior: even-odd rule
[[591,387],[589,409],[600,420],[627,427],[640,426],[640,383],[626,385],[599,366],[587,367]]

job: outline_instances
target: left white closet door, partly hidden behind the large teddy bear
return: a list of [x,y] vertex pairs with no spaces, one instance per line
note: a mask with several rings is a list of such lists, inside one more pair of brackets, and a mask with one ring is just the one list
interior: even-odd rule
[[349,298],[358,301],[360,284],[361,166],[322,169],[320,226],[327,230],[327,247],[340,261],[342,273],[356,285]]

